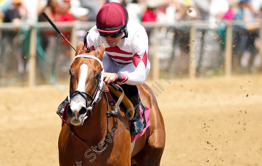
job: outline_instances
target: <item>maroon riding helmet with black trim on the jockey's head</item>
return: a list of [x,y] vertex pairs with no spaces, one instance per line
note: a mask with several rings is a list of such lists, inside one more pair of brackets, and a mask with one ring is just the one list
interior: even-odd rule
[[96,16],[96,28],[99,32],[115,33],[125,31],[128,22],[128,12],[120,3],[109,2],[104,4]]

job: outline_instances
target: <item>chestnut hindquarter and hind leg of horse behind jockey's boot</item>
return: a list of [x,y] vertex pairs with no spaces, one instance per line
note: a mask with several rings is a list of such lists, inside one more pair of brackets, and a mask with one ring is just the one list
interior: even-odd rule
[[[138,86],[138,89],[141,96],[147,96],[147,100],[144,101],[144,104],[151,108],[151,112],[149,114],[151,126],[148,127],[146,133],[144,134],[144,136],[146,135],[146,138],[142,135],[136,140],[137,144],[135,143],[135,147],[138,149],[141,148],[141,150],[139,150],[137,153],[135,151],[136,155],[134,155],[132,159],[136,161],[138,166],[159,165],[166,142],[163,116],[158,108],[158,104],[155,101],[155,96],[150,88],[146,84],[143,84],[142,86]],[[150,96],[148,96],[149,93],[151,94]],[[141,144],[142,142],[143,144]]]

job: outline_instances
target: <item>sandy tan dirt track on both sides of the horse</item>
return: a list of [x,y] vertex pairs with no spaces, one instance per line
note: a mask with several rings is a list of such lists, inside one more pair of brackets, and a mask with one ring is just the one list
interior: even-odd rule
[[[170,82],[158,81],[167,135],[161,165],[261,165],[262,75]],[[59,165],[56,108],[67,89],[0,88],[1,166]]]

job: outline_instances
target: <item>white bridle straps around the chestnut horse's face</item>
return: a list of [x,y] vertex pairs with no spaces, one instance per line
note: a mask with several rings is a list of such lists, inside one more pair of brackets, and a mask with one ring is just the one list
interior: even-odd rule
[[[101,71],[101,75],[100,75],[100,77],[99,77],[99,82],[98,82],[98,84],[97,84],[97,87],[96,87],[96,90],[95,90],[95,93],[94,93],[94,95],[92,96],[92,95],[90,95],[89,93],[87,93],[87,92],[81,92],[81,91],[73,91],[73,92],[71,92],[70,93],[70,90],[69,90],[69,92],[68,92],[68,101],[69,101],[69,103],[70,103],[70,100],[73,98],[73,97],[75,97],[76,95],[80,95],[80,96],[82,96],[84,99],[85,99],[85,107],[86,107],[86,109],[87,109],[87,111],[89,112],[89,116],[88,117],[85,117],[85,120],[88,120],[91,116],[92,116],[92,109],[93,109],[93,106],[96,104],[96,103],[98,103],[100,100],[101,100],[101,93],[102,92],[107,92],[107,91],[104,91],[103,90],[103,80],[104,80],[104,68],[103,68],[103,64],[102,64],[102,62],[101,62],[101,60],[100,59],[98,59],[97,57],[95,57],[95,56],[91,56],[91,55],[82,55],[82,54],[80,54],[80,55],[77,55],[77,56],[75,56],[75,59],[76,58],[79,58],[79,57],[84,57],[84,58],[91,58],[91,59],[95,59],[95,60],[97,60],[99,63],[100,63],[100,65],[101,65],[101,67],[102,67],[102,71]],[[74,60],[75,60],[74,59]],[[91,98],[91,100],[92,100],[92,103],[91,103],[91,105],[88,107],[88,105],[87,105],[87,96],[89,96],[90,98]]]

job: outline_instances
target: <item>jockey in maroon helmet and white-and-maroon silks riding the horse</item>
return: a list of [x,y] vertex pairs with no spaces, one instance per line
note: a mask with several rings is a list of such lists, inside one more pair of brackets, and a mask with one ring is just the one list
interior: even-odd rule
[[[119,3],[109,2],[98,11],[96,25],[87,32],[85,46],[96,50],[104,41],[103,55],[104,82],[115,82],[124,89],[135,110],[131,119],[130,134],[136,135],[143,130],[140,116],[141,103],[136,85],[142,85],[148,76],[148,36],[145,28],[128,20],[128,12]],[[58,107],[61,113],[65,104]],[[62,106],[64,105],[64,106]]]

